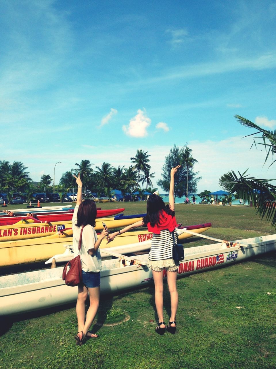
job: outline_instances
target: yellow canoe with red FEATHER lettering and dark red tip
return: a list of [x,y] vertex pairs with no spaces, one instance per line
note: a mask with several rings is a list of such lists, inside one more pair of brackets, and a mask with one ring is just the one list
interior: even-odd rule
[[[180,242],[183,242],[185,238],[192,237],[191,234],[183,232],[183,229],[201,234],[210,227],[212,227],[211,223],[191,225],[186,228],[180,227],[177,229],[178,239]],[[64,245],[72,245],[72,236],[73,232],[70,227],[46,237],[0,242],[0,267],[43,261],[51,258],[55,254],[63,254]],[[148,230],[125,232],[114,238],[114,241],[109,244],[107,244],[107,239],[104,238],[100,247],[109,248],[147,242],[147,247],[144,248],[144,250],[146,250],[151,247],[151,238],[152,233],[148,232]],[[70,256],[68,260],[70,260]]]

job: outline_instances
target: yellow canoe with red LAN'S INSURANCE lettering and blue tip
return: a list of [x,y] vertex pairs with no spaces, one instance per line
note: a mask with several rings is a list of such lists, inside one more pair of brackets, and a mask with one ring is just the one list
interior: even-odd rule
[[[110,218],[97,218],[95,230],[102,230],[103,223],[107,225],[109,229],[121,228],[126,225],[135,223],[138,220],[142,220],[145,214],[126,215],[117,214]],[[19,239],[31,239],[37,237],[45,237],[55,234],[57,231],[61,231],[65,228],[71,227],[72,221],[57,221],[57,222],[40,222],[26,224],[24,221],[19,221],[11,225],[0,226],[0,241],[15,241]],[[0,244],[1,244],[0,242]]]

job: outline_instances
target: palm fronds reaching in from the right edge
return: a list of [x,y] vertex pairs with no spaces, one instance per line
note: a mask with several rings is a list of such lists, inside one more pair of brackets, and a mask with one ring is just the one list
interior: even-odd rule
[[[276,153],[276,130],[270,131],[265,130],[255,123],[252,123],[246,118],[241,117],[240,115],[235,115],[235,118],[246,127],[254,128],[256,130],[255,134],[261,133],[261,137],[255,137],[253,145],[262,145],[266,149],[266,158],[265,163],[268,160],[269,154]],[[261,142],[256,140],[261,139]],[[251,146],[251,147],[252,147]],[[275,162],[272,161],[270,166]],[[261,216],[261,218],[265,217],[266,221],[271,221],[273,226],[276,225],[276,186],[270,183],[270,181],[275,179],[258,179],[256,177],[248,177],[246,175],[247,170],[244,173],[238,172],[238,175],[234,173],[233,170],[230,172],[224,173],[219,179],[220,186],[223,187],[224,190],[234,193],[237,192],[238,197],[240,199],[244,199],[247,201],[252,201],[254,208],[256,209],[256,213]]]

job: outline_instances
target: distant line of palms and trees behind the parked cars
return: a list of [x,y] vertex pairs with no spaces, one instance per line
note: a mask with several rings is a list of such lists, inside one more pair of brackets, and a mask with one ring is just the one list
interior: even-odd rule
[[[155,172],[152,172],[148,151],[137,150],[136,155],[130,158],[129,167],[113,167],[108,162],[103,162],[101,166],[95,166],[88,159],[75,163],[75,168],[64,172],[59,184],[55,186],[55,192],[74,192],[74,175],[80,173],[83,192],[95,192],[98,196],[105,194],[112,196],[112,190],[120,190],[122,195],[138,191],[140,195],[146,190],[153,193],[157,188],[153,188],[152,179]],[[194,172],[194,164],[197,160],[192,157],[192,149],[187,144],[183,148],[174,145],[166,156],[162,166],[162,179],[157,184],[164,192],[169,192],[170,170],[173,166],[181,164],[175,177],[175,196],[182,197],[186,193],[197,191],[197,183],[201,179],[198,172]],[[27,167],[22,162],[0,161],[0,192],[10,195],[12,192],[24,193],[27,197],[35,192],[52,192],[53,179],[51,176],[42,175],[40,182],[33,182],[27,171]]]

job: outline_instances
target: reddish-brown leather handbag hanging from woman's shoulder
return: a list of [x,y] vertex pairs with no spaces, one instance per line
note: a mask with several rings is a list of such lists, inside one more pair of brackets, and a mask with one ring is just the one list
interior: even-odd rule
[[[84,229],[84,225],[81,228],[81,234],[79,236],[79,252],[81,251],[81,238],[82,231]],[[69,266],[69,270],[67,272],[67,267]],[[78,255],[69,261],[63,268],[62,279],[65,280],[65,284],[67,286],[75,287],[82,281],[81,274],[81,257]]]

